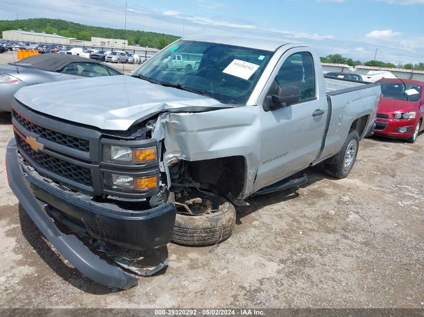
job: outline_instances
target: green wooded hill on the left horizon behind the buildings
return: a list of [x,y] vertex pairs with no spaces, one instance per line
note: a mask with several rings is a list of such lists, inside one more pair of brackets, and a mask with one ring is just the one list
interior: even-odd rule
[[112,29],[103,27],[87,26],[84,24],[69,22],[60,19],[26,19],[26,20],[0,20],[0,32],[7,30],[31,31],[47,34],[76,38],[81,41],[91,41],[91,37],[106,39],[125,39],[128,45],[148,46],[163,49],[168,44],[178,40],[180,37],[170,34],[145,32],[124,29]]

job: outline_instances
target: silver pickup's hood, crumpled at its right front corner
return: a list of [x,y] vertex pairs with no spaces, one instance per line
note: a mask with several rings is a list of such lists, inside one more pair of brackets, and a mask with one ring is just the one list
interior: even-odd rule
[[127,130],[160,112],[203,112],[233,107],[129,76],[28,86],[20,89],[15,98],[38,112],[104,130]]

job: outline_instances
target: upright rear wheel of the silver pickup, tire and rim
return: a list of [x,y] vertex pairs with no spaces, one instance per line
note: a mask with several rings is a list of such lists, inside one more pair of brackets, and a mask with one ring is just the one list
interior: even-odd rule
[[[332,157],[333,163],[324,163],[325,172],[336,178],[345,178],[355,164],[359,150],[359,134],[356,130],[350,130],[341,150]],[[353,151],[353,153],[352,153]]]

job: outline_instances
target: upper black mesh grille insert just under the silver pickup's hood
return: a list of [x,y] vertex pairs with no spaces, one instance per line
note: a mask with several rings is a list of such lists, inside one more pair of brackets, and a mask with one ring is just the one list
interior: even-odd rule
[[84,152],[89,152],[90,150],[90,142],[88,140],[80,139],[80,138],[66,135],[60,132],[52,131],[44,127],[40,127],[28,121],[27,119],[25,119],[24,117],[16,113],[15,111],[13,112],[13,115],[15,119],[21,125],[23,125],[28,131],[36,133],[46,140],[49,140],[58,144],[62,144],[67,147],[84,151]]

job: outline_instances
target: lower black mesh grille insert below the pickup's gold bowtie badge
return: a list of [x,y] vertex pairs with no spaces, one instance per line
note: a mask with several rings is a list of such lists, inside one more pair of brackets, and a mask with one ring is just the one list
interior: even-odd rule
[[16,138],[21,149],[27,153],[30,158],[45,169],[63,176],[72,181],[93,186],[91,172],[88,168],[84,168],[61,159],[53,157],[46,153],[40,153],[31,148],[31,146],[21,137]]

